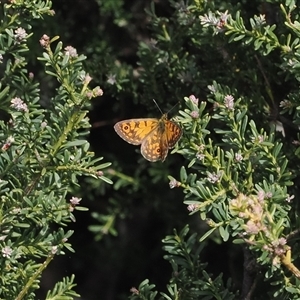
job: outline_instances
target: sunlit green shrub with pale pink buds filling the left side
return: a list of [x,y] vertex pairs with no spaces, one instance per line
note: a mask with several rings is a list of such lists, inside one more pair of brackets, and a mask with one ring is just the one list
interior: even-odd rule
[[[36,299],[41,276],[56,255],[73,251],[66,225],[75,221],[73,211],[80,198],[70,197],[78,177],[102,179],[102,169],[86,140],[87,108],[90,99],[101,96],[99,87],[90,90],[83,55],[72,47],[44,35],[39,58],[44,76],[57,80],[54,96],[40,90],[28,72],[30,21],[51,14],[49,1],[1,3],[1,256],[0,298]],[[54,48],[54,50],[52,50]],[[42,51],[42,48],[41,48]],[[47,109],[41,97],[47,98]],[[64,278],[48,292],[47,299],[73,299],[74,276]]]

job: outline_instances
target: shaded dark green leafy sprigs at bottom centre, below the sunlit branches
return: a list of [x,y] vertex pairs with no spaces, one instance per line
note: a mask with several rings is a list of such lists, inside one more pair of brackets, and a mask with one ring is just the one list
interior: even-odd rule
[[[165,259],[170,262],[173,276],[167,285],[168,294],[161,293],[159,299],[219,299],[232,300],[235,295],[230,292],[231,283],[223,285],[222,274],[211,278],[205,271],[206,264],[200,262],[201,251],[204,244],[199,244],[197,234],[188,237],[189,228],[186,226],[179,234],[167,236],[163,243],[168,253]],[[130,299],[157,299],[155,285],[143,281],[138,290],[132,288]]]

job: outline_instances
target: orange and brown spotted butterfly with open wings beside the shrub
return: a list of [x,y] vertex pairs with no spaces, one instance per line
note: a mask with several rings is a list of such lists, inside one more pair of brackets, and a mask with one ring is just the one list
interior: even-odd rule
[[167,114],[160,119],[130,119],[114,126],[117,134],[129,144],[141,145],[141,153],[149,161],[164,161],[182,135],[178,124],[168,120]]

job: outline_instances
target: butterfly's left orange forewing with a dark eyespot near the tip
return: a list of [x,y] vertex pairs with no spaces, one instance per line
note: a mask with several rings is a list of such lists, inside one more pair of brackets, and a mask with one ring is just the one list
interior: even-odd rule
[[126,142],[133,145],[140,145],[157,128],[157,125],[157,119],[130,119],[116,123],[114,129]]

